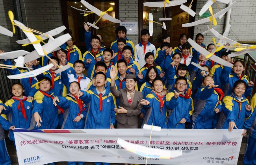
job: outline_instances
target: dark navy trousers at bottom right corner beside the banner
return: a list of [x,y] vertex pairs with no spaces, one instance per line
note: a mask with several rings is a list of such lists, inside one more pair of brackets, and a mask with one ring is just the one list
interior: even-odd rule
[[247,134],[247,146],[243,157],[244,165],[256,165],[256,139]]

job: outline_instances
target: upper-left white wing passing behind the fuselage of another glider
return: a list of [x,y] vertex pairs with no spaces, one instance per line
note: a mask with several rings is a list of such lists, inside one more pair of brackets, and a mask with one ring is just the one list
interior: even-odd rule
[[[42,38],[42,40],[45,40],[47,38],[51,38],[52,36],[58,35],[59,33],[63,32],[65,29],[66,29],[66,27],[63,25],[61,27],[58,27],[58,28],[48,31],[46,33],[40,34],[39,36]],[[26,38],[24,40],[18,40],[16,42],[18,44],[29,44],[30,40],[28,38]]]

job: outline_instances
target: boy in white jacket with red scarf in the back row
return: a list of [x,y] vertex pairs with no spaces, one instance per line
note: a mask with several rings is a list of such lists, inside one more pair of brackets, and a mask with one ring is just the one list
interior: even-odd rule
[[148,42],[149,31],[147,29],[143,29],[141,31],[141,42],[135,46],[135,61],[139,63],[141,69],[145,65],[145,54],[148,52],[156,54],[156,47],[153,44]]

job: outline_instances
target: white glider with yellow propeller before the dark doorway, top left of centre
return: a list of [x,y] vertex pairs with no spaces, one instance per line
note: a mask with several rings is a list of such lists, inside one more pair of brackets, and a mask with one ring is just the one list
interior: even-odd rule
[[[94,7],[93,5],[89,4],[88,2],[84,1],[84,0],[81,0],[80,1],[85,7],[87,7],[87,9],[91,10],[93,13],[95,13],[96,15],[100,16],[100,18],[104,18],[106,20],[109,20],[113,23],[118,23],[120,24],[121,23],[121,20],[118,20],[110,15],[107,14],[107,11],[100,11],[99,9],[97,9],[96,7]],[[111,11],[110,10],[111,7],[108,9],[108,11]],[[113,7],[112,7],[112,10],[113,10]],[[100,18],[98,20],[100,20]],[[98,20],[96,21],[96,23],[98,22]],[[88,24],[89,22],[87,22],[86,24]],[[95,26],[96,23],[93,23],[93,24],[88,24],[96,29],[98,29],[97,26]]]

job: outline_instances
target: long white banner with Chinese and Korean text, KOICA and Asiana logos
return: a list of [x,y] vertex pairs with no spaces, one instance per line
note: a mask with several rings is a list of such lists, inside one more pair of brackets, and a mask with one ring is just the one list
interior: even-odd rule
[[124,150],[121,138],[130,143],[163,150],[182,150],[171,159],[148,159],[162,165],[236,165],[243,130],[217,129],[15,129],[19,165],[41,165],[57,161],[85,161],[145,164],[146,158]]

